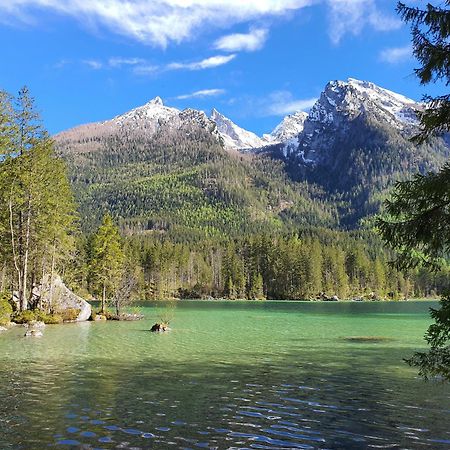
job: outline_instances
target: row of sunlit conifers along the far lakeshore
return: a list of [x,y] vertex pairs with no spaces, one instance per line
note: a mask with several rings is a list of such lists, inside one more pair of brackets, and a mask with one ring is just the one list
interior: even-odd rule
[[[365,234],[365,235],[364,235]],[[330,230],[301,236],[255,235],[228,241],[174,242],[161,236],[125,239],[138,297],[400,299],[436,296],[448,288],[449,271],[398,272],[378,239]],[[66,278],[89,289],[92,244],[87,238]]]

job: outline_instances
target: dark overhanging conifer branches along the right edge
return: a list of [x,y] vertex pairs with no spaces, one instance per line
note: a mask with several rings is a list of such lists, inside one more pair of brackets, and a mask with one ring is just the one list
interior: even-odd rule
[[[446,0],[448,7],[450,1]],[[412,24],[414,54],[421,63],[416,73],[422,84],[450,82],[450,11],[427,5],[426,10],[397,7],[406,22]],[[450,97],[428,98],[430,104],[421,114],[422,132],[417,141],[450,130]],[[392,198],[385,203],[386,215],[377,220],[384,241],[398,253],[397,265],[413,268],[431,266],[435,270],[448,261],[450,245],[450,165],[438,173],[416,175],[397,183]],[[423,274],[422,274],[423,275]],[[446,270],[448,283],[448,270]],[[427,278],[425,276],[425,278]],[[435,323],[425,336],[428,352],[415,353],[407,362],[419,368],[425,378],[440,375],[450,379],[450,301],[444,297],[440,310],[432,310]]]

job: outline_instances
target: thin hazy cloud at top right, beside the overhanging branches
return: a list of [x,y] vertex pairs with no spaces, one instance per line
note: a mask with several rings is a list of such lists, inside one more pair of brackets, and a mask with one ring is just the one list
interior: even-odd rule
[[338,44],[346,34],[359,35],[370,26],[377,31],[396,30],[401,20],[380,12],[375,0],[327,0],[331,41]]

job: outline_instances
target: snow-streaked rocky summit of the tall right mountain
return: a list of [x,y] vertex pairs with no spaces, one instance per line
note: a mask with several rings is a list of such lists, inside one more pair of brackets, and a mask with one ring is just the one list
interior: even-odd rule
[[282,142],[280,151],[309,166],[333,161],[337,143],[350,134],[354,141],[363,130],[382,127],[411,136],[419,125],[421,108],[422,104],[368,81],[330,81],[311,108],[303,131]]

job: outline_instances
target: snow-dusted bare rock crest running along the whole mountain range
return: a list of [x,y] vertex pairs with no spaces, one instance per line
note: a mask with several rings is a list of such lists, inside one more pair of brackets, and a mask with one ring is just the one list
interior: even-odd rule
[[[141,133],[147,137],[161,127],[179,129],[195,122],[210,131],[225,148],[252,151],[282,144],[285,157],[296,155],[305,163],[317,162],[314,155],[315,141],[325,129],[342,129],[344,122],[359,115],[372,115],[405,133],[418,125],[416,112],[423,105],[403,95],[381,88],[368,81],[349,78],[348,81],[330,81],[309,113],[298,111],[286,116],[270,133],[262,137],[238,126],[231,119],[213,109],[208,117],[203,111],[164,105],[161,97],[155,97],[113,119],[75,127],[57,135],[57,139],[76,134],[89,138],[93,135],[114,133]],[[345,128],[345,126],[344,126]]]

